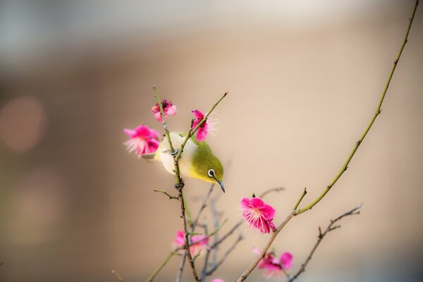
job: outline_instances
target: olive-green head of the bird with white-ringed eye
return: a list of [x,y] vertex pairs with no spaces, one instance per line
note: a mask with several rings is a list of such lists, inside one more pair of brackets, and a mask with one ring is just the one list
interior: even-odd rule
[[197,152],[192,158],[192,177],[209,183],[217,183],[225,192],[223,186],[223,166],[221,161],[213,154],[206,142],[199,142]]

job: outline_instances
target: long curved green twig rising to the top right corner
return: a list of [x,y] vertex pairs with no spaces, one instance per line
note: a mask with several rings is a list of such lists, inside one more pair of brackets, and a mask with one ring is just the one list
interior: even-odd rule
[[392,69],[391,69],[391,73],[390,73],[390,75],[388,77],[388,81],[386,82],[386,85],[385,85],[385,88],[384,88],[384,92],[382,92],[382,94],[381,94],[381,99],[379,100],[379,104],[377,105],[376,111],[374,111],[373,117],[370,120],[369,124],[367,125],[367,128],[364,129],[364,132],[362,133],[360,139],[355,143],[355,146],[353,147],[353,151],[348,156],[347,160],[345,161],[345,164],[341,168],[341,171],[338,172],[338,174],[333,178],[333,180],[331,181],[331,183],[329,183],[329,185],[327,185],[327,187],[324,189],[324,191],[321,193],[321,195],[319,195],[319,197],[316,198],[316,200],[314,200],[313,202],[311,202],[310,204],[308,204],[306,207],[303,207],[302,209],[299,209],[298,211],[296,211],[295,212],[295,215],[302,214],[303,212],[307,212],[309,209],[312,209],[312,207],[314,207],[318,202],[320,202],[320,200],[326,195],[326,193],[329,192],[329,190],[331,190],[331,188],[333,187],[333,185],[335,185],[336,181],[338,181],[338,179],[341,178],[341,176],[343,175],[343,173],[347,170],[348,164],[350,164],[350,161],[351,161],[351,159],[353,159],[355,152],[357,151],[358,147],[360,147],[360,145],[362,144],[362,142],[364,140],[364,137],[366,137],[366,135],[369,132],[370,128],[372,128],[372,125],[373,125],[374,121],[376,120],[377,116],[379,116],[379,114],[381,114],[381,106],[382,106],[382,103],[384,102],[384,98],[385,98],[386,92],[388,91],[389,84],[391,83],[393,72],[395,71],[396,66],[398,65],[398,61],[400,61],[401,54],[403,54],[403,49],[405,47],[405,44],[407,43],[408,34],[410,33],[410,28],[411,28],[411,25],[412,25],[412,21],[414,20],[414,17],[415,17],[415,13],[416,13],[418,4],[419,4],[419,0],[417,0],[415,2],[415,7],[414,7],[414,9],[412,11],[412,15],[411,15],[411,18],[410,18],[410,23],[408,23],[407,32],[405,32],[405,37],[403,39],[403,44],[401,44],[401,47],[400,47],[400,51],[398,53],[398,56],[396,57],[395,61],[393,61],[393,66],[392,66]]

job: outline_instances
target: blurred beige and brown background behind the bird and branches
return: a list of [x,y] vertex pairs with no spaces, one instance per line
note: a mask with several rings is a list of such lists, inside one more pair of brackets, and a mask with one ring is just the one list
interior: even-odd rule
[[[123,128],[160,129],[152,85],[178,107],[217,108],[208,142],[227,168],[227,231],[241,197],[283,220],[312,201],[369,122],[414,1],[0,2],[0,281],[143,281],[168,255],[179,206],[161,164],[125,152]],[[318,226],[364,203],[321,244],[300,281],[421,281],[423,14],[348,171],[274,247],[299,269]],[[192,212],[209,185],[186,180]],[[216,189],[214,195],[221,191]],[[207,214],[205,214],[207,216]],[[245,235],[214,278],[233,281],[266,237]],[[236,235],[235,235],[236,236]],[[231,245],[231,240],[226,245]],[[223,250],[222,249],[222,250]],[[199,263],[202,258],[199,259]],[[157,281],[173,281],[179,259]],[[185,270],[184,281],[191,281]],[[250,281],[264,281],[255,270]]]

